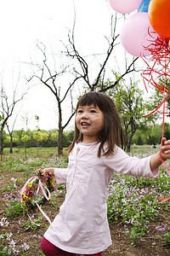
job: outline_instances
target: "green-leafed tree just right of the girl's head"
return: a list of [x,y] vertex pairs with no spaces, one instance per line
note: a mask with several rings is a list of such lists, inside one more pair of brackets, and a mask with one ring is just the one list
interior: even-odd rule
[[[144,102],[143,90],[139,90],[138,83],[130,79],[130,83],[117,84],[112,90],[112,97],[116,103],[116,108],[121,115],[124,128],[127,152],[130,152],[133,135],[137,130],[144,130],[146,122],[154,120],[155,116],[150,119],[144,118],[148,104]],[[110,91],[111,94],[111,91]]]

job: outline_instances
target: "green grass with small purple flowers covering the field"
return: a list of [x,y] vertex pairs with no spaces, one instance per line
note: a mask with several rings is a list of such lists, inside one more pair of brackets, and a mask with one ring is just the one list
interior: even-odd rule
[[[150,146],[134,146],[131,155],[142,158],[149,154],[154,154],[158,149],[151,149]],[[63,167],[67,166],[68,158],[58,157],[56,148],[27,148],[27,158],[24,149],[14,148],[13,154],[8,154],[8,148],[5,148],[3,160],[1,161],[0,175],[9,173],[12,177],[15,173],[22,174],[19,178],[11,178],[8,183],[1,188],[6,194],[6,217],[0,219],[0,227],[8,225],[8,217],[21,218],[23,217],[22,208],[20,207],[20,196],[16,193],[11,193],[17,190],[18,185],[23,183],[23,179],[31,177],[35,174],[37,168],[47,166]],[[167,160],[167,167],[169,160]],[[130,177],[116,173],[108,186],[108,218],[110,221],[116,221],[117,224],[124,225],[125,233],[129,235],[133,246],[138,245],[144,236],[149,232],[149,226],[152,221],[158,218],[159,213],[169,211],[169,201],[161,204],[158,197],[165,198],[169,196],[170,183],[167,171],[163,166],[160,168],[160,175],[157,178]],[[55,200],[65,190],[65,185],[59,185],[55,194],[52,197],[51,205],[55,205]],[[39,219],[40,220],[40,219]],[[38,218],[36,221],[39,221]],[[31,223],[27,221],[25,229],[30,229]],[[37,231],[37,227],[33,227]],[[158,226],[156,230],[160,232],[164,244],[170,245],[170,230],[168,226]],[[24,253],[29,251],[29,247],[23,244],[23,247],[16,248],[13,239],[9,234],[4,233],[0,236],[0,255],[10,255],[17,251]],[[9,241],[14,244],[9,246]],[[8,247],[10,254],[8,254]],[[26,249],[27,248],[27,249]],[[6,253],[6,254],[5,254]]]

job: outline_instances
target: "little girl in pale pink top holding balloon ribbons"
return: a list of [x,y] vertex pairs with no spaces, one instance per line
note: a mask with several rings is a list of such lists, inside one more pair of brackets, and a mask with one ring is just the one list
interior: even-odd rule
[[120,147],[123,133],[114,103],[109,96],[88,92],[77,102],[68,168],[43,170],[51,172],[57,183],[66,183],[67,191],[59,214],[42,238],[45,255],[101,256],[111,246],[107,185],[114,172],[156,177],[161,160],[170,158],[166,138],[161,139],[158,153],[144,159],[130,157]]

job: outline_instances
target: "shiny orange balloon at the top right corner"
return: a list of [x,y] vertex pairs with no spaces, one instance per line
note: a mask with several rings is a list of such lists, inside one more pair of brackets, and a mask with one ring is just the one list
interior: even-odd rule
[[170,38],[170,0],[150,0],[148,15],[161,38]]

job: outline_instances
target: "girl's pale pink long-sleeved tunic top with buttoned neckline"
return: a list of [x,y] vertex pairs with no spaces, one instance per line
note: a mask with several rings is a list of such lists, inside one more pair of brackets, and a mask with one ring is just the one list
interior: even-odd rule
[[[83,145],[83,144],[82,144]],[[66,183],[59,214],[44,234],[48,241],[67,252],[93,254],[111,245],[107,220],[107,186],[114,172],[139,177],[156,177],[150,157],[138,159],[115,147],[109,157],[97,156],[99,143],[75,145],[66,169],[55,168],[57,183]]]

